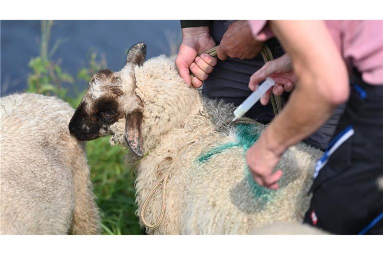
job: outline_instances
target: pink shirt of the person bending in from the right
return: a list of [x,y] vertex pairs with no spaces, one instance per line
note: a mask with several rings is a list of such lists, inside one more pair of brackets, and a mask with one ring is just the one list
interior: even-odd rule
[[[356,67],[362,79],[383,84],[383,20],[325,20],[349,68]],[[254,38],[273,37],[267,20],[249,20]]]

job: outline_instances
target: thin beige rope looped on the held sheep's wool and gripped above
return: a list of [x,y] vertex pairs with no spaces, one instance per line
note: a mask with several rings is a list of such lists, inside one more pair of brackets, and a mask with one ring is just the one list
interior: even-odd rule
[[[218,45],[219,46],[219,45]],[[217,49],[218,49],[218,46],[214,47],[214,48],[211,48],[211,49],[208,49],[206,50],[204,53],[207,53],[209,54],[210,56],[212,57],[215,57],[217,55]],[[270,48],[265,44],[260,52],[262,54],[262,57],[263,57],[263,61],[266,63],[270,60],[273,60],[273,54],[271,53],[271,50]],[[193,75],[191,74],[191,76],[193,77]],[[276,116],[279,111],[282,109],[283,107],[283,102],[282,102],[282,99],[280,96],[275,96],[273,95],[272,93],[270,94],[270,101],[271,101],[271,104],[273,106],[273,111],[274,111],[274,115]],[[230,121],[227,121],[225,123],[226,125],[236,125],[236,124],[259,124],[258,122],[254,121],[253,119],[250,119],[250,118],[238,118],[237,120],[233,121],[233,122],[230,122]],[[209,132],[212,132],[212,131],[217,131],[217,128],[215,129],[209,129],[207,130],[208,132],[207,133],[202,133],[201,134],[198,134],[201,137],[203,137],[204,135],[208,134]],[[196,140],[192,140],[190,142],[188,142],[184,148],[182,149],[182,151],[190,144],[194,143]],[[180,151],[180,153],[178,154],[181,155],[182,151]],[[173,160],[173,162],[176,162],[178,156]],[[164,215],[165,215],[165,206],[166,206],[166,185],[168,183],[168,180],[169,180],[169,175],[170,175],[170,169],[168,169],[168,171],[161,177],[160,180],[157,181],[157,183],[154,185],[154,187],[151,189],[151,191],[149,192],[149,195],[147,196],[147,198],[145,199],[145,202],[142,206],[142,209],[141,209],[141,212],[140,212],[140,216],[141,216],[141,220],[142,220],[142,223],[148,227],[148,228],[157,228],[158,226],[161,225],[162,223],[162,220],[164,219]],[[162,202],[161,202],[161,212],[160,212],[160,217],[158,219],[157,222],[155,223],[149,223],[146,218],[145,218],[145,211],[146,211],[146,208],[150,202],[150,200],[153,198],[153,195],[154,193],[157,191],[157,189],[161,186],[162,184]]]

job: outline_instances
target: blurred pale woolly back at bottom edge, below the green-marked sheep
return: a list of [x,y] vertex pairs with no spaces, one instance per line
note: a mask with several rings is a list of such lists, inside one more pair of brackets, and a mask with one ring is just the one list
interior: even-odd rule
[[256,228],[252,235],[330,235],[321,229],[302,223],[275,222],[273,224]]

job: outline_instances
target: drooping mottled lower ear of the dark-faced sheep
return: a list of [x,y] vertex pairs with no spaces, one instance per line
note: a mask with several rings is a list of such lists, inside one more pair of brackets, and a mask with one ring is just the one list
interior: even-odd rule
[[142,113],[126,114],[125,140],[137,156],[143,156],[143,139],[141,133]]

